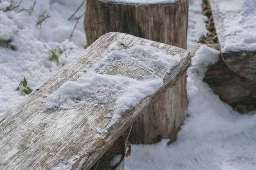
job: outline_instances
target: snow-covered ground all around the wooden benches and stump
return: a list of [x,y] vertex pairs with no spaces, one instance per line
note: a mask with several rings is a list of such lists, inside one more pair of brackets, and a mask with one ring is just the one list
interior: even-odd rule
[[[16,91],[24,77],[27,86],[35,89],[86,44],[82,18],[70,38],[76,24],[74,18],[83,14],[84,8],[67,20],[83,0],[37,0],[31,15],[26,10],[33,6],[34,0],[22,0],[16,12],[4,12],[7,2],[10,0],[0,3],[0,116],[24,99],[25,95]],[[14,4],[19,2],[15,0]],[[207,33],[204,23],[207,18],[201,14],[201,3],[202,0],[190,0],[188,45],[196,44]],[[18,12],[20,9],[26,10]],[[45,15],[49,13],[51,17],[37,26],[45,10]],[[9,48],[4,42],[7,40],[11,40]],[[48,49],[56,49],[58,65],[49,60],[52,54]],[[61,53],[64,50],[66,55]],[[177,141],[169,146],[168,140],[132,145],[126,170],[256,170],[255,112],[238,114],[202,82],[207,64],[217,60],[218,51],[201,46],[188,71],[189,117]]]

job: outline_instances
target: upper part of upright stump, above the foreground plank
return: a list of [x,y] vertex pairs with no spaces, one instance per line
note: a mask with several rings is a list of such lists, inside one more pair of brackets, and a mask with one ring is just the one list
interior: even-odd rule
[[108,32],[121,32],[186,49],[189,0],[173,4],[122,4],[86,0],[88,45]]

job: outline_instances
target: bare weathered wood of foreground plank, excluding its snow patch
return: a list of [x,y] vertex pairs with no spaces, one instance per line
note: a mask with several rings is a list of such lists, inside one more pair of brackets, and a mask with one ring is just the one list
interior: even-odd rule
[[[98,62],[102,53],[135,45],[155,46],[166,49],[172,55],[180,53],[180,64],[170,73],[164,73],[164,84],[159,90],[143,99],[133,110],[127,111],[106,131],[99,133],[96,127],[106,127],[106,121],[110,118],[105,115],[113,114],[108,109],[110,106],[79,106],[56,111],[43,109],[48,95],[54,93],[63,83],[76,81],[77,73],[83,71],[88,64]],[[152,100],[175,84],[190,65],[190,60],[188,51],[174,46],[124,33],[108,33],[102,36],[41,84],[38,91],[33,91],[4,115],[0,122],[0,169],[89,170]],[[120,66],[108,74],[119,74],[138,80],[148,74],[142,69],[135,74],[129,71],[130,67],[133,66]],[[153,71],[157,73],[160,70]]]

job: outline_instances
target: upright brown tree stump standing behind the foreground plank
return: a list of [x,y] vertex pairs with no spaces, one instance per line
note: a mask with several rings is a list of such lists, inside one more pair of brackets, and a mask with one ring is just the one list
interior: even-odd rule
[[[108,32],[122,32],[186,49],[189,0],[142,4],[87,0],[84,29],[88,45]],[[151,1],[152,2],[152,1]],[[171,2],[171,1],[170,1]],[[187,108],[186,73],[134,122],[129,141],[152,144],[176,140]]]

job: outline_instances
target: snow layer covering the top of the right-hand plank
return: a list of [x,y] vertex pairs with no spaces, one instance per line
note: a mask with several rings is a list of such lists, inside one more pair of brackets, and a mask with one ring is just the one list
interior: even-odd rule
[[256,0],[214,1],[222,20],[222,50],[256,51]]

